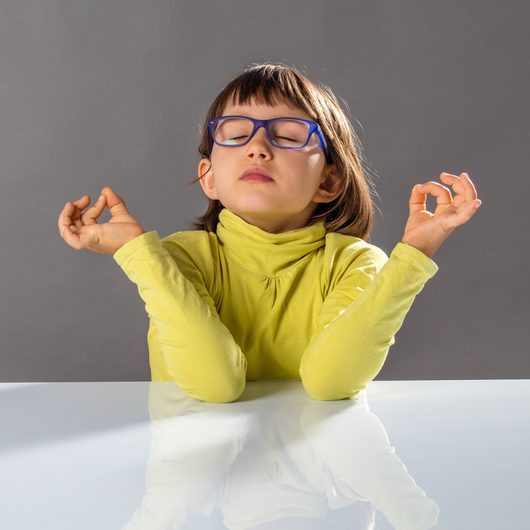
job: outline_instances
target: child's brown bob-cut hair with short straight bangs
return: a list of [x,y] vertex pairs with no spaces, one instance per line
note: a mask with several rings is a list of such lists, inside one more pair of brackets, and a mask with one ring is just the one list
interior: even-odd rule
[[[302,109],[320,125],[331,157],[331,162],[326,161],[326,164],[335,164],[344,185],[341,194],[333,201],[318,204],[306,226],[324,218],[327,232],[369,238],[374,215],[373,183],[363,167],[359,139],[331,89],[313,82],[296,68],[281,63],[254,63],[230,81],[211,104],[200,133],[199,154],[202,158],[210,159],[208,122],[222,115],[230,98],[232,104],[240,105],[251,100],[271,106],[284,102]],[[204,174],[190,183],[198,182],[210,169],[211,163]],[[208,201],[206,213],[195,218],[193,227],[215,232],[224,206],[217,199],[208,198]]]

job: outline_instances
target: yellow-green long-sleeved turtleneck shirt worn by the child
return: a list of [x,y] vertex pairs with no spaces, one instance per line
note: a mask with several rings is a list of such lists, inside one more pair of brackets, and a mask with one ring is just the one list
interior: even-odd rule
[[212,402],[278,378],[301,380],[314,399],[353,397],[438,271],[402,242],[388,257],[322,221],[274,234],[227,208],[215,233],[153,230],[113,258],[145,302],[152,380]]

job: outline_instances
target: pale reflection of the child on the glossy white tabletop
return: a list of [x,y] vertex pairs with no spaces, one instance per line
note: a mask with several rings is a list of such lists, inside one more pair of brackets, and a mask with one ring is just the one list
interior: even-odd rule
[[407,472],[364,392],[322,402],[292,386],[253,390],[226,406],[151,385],[146,491],[123,530],[187,528],[197,516],[231,530],[435,527],[437,504]]

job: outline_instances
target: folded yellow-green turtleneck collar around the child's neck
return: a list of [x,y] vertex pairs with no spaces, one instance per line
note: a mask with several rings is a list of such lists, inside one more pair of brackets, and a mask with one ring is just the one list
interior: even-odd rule
[[326,242],[324,221],[272,234],[247,223],[228,208],[219,213],[216,233],[230,258],[264,276],[280,276]]

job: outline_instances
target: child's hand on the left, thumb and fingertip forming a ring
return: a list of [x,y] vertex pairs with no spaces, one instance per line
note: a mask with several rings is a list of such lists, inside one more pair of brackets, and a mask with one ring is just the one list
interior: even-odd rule
[[[114,254],[131,239],[145,233],[140,223],[128,212],[123,199],[108,186],[92,207],[90,196],[67,202],[59,215],[61,237],[76,250],[86,248],[99,254]],[[108,223],[97,224],[97,218],[108,205],[112,218]]]

